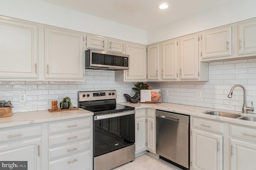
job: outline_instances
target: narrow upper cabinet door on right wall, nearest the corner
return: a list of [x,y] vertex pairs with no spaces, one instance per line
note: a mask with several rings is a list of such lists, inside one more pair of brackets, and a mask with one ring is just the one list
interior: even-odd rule
[[160,80],[159,44],[148,46],[148,80]]

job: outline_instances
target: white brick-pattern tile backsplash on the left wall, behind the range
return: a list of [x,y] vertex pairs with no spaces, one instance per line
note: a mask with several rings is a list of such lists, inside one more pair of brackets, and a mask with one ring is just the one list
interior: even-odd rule
[[[117,102],[125,102],[123,94],[134,95],[132,87],[137,82],[115,82],[115,72],[86,69],[85,81],[0,81],[0,100],[12,101],[13,113],[51,109],[52,101],[58,103],[66,96],[77,106],[78,91],[117,91]],[[26,94],[26,102],[19,102],[19,94]],[[58,105],[59,107],[59,105]]]

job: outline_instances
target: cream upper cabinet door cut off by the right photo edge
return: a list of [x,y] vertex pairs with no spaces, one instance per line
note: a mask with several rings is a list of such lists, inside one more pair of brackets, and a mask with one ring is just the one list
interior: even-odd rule
[[256,20],[238,24],[238,55],[256,53]]

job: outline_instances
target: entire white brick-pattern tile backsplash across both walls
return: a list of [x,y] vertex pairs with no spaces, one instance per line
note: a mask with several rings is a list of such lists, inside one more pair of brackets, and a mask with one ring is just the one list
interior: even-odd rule
[[[132,90],[138,82],[115,82],[115,72],[105,70],[85,71],[85,81],[0,81],[0,100],[12,101],[13,113],[40,111],[51,108],[69,96],[77,106],[78,91],[117,91],[117,102],[125,102],[123,94],[134,95]],[[256,107],[256,59],[209,63],[209,81],[148,82],[154,89],[162,90],[162,101],[231,111],[242,111],[243,90],[236,87],[233,97],[228,98],[231,87],[241,84],[246,87],[247,106]],[[202,98],[195,98],[201,92]],[[26,95],[26,102],[19,102],[19,94]],[[254,111],[253,113],[256,113]]]

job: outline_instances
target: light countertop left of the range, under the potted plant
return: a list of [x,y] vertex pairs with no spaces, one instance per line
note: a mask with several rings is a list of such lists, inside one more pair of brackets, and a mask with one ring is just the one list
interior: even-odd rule
[[58,121],[92,115],[92,112],[86,111],[84,109],[53,113],[49,112],[48,110],[13,113],[11,117],[0,118],[0,128],[18,125],[29,125],[33,123],[44,123],[48,121]]

